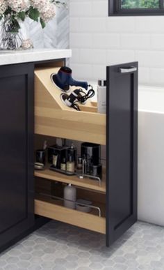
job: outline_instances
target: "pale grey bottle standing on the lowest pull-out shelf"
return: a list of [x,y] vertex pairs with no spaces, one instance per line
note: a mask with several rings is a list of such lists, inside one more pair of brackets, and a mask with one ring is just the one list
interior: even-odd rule
[[76,208],[76,188],[71,183],[64,188],[64,206],[70,209]]

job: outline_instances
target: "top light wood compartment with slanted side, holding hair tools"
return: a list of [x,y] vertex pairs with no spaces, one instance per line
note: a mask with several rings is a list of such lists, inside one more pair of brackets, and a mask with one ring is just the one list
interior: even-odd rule
[[65,106],[62,91],[51,82],[59,68],[35,70],[35,133],[82,142],[106,144],[106,115],[95,103],[81,105],[81,112]]

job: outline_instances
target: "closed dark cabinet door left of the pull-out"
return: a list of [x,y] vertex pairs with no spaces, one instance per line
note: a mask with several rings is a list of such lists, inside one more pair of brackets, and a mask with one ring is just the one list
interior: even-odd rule
[[33,225],[33,65],[0,68],[0,248]]

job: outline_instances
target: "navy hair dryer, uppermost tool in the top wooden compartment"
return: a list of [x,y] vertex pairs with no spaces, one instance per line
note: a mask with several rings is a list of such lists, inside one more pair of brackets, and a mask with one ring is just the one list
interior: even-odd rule
[[51,81],[62,91],[69,91],[69,86],[82,87],[88,89],[88,82],[79,82],[72,78],[71,68],[63,66],[58,73],[51,74]]

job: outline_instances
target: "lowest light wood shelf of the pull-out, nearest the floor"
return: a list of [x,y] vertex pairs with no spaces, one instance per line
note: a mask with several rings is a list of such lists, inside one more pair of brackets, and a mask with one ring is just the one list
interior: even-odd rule
[[[35,214],[106,234],[106,218],[100,218],[95,210],[90,213],[83,213],[63,207],[62,204],[58,200],[37,195],[35,199]],[[101,209],[102,215],[104,215],[102,204]]]

